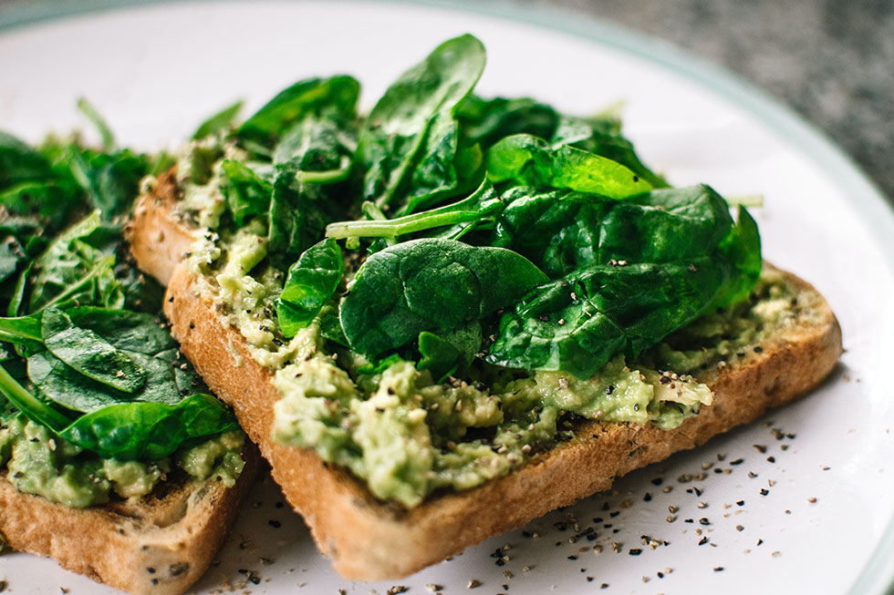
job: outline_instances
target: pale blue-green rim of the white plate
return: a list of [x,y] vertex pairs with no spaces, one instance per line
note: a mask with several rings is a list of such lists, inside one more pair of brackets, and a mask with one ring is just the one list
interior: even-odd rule
[[[297,4],[308,0],[272,1]],[[684,77],[774,129],[811,163],[822,167],[835,180],[839,189],[849,190],[847,194],[852,200],[855,214],[867,225],[889,272],[894,275],[894,241],[891,240],[894,238],[894,197],[889,199],[878,184],[858,166],[856,160],[814,123],[764,88],[732,70],[715,65],[702,56],[658,37],[566,7],[523,5],[517,0],[494,3],[480,3],[475,0],[337,1],[342,4],[423,5],[493,16],[608,46]],[[223,3],[238,4],[233,0],[68,0],[61,5],[53,0],[17,2],[13,5],[0,5],[0,36],[11,30],[39,26],[50,21],[128,8]],[[853,595],[894,593],[894,511],[876,549],[847,592]]]

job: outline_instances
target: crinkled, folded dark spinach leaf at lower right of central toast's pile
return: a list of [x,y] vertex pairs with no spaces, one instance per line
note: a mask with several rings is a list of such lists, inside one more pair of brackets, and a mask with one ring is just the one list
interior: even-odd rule
[[716,302],[733,267],[710,256],[598,265],[528,293],[500,321],[485,361],[596,374],[618,353],[636,356]]

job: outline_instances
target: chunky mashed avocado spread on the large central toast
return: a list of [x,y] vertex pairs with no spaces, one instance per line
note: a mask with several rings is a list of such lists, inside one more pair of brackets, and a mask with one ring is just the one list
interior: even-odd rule
[[[216,168],[204,184],[182,174],[184,221],[217,220],[224,197],[214,188]],[[712,403],[710,389],[691,374],[742,357],[746,347],[792,323],[793,301],[800,299],[781,276],[765,271],[749,301],[671,334],[636,363],[618,355],[582,380],[476,361],[438,382],[412,362],[373,366],[327,340],[320,321],[337,307],[334,301],[286,340],[273,315],[285,275],[267,259],[263,225],[213,229],[193,247],[189,266],[222,321],[238,328],[255,360],[274,373],[282,395],[275,440],[315,450],[362,478],[376,497],[408,507],[435,490],[503,476],[572,439],[583,419],[680,426]],[[242,362],[234,355],[233,364]]]

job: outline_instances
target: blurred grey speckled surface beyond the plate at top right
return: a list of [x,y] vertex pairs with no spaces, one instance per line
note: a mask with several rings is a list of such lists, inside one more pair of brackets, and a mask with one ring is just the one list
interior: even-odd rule
[[894,205],[894,0],[527,0],[660,37],[769,91]]

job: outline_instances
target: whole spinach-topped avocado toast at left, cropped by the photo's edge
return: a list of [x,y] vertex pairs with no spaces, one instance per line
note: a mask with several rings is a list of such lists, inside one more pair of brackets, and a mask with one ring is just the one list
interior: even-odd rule
[[202,576],[258,457],[121,235],[166,155],[0,133],[0,541],[133,593]]

